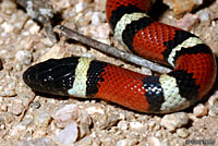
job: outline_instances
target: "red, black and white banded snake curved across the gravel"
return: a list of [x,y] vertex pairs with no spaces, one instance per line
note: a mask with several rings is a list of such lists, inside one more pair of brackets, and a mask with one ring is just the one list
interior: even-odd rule
[[195,35],[152,20],[154,0],[107,0],[107,21],[133,53],[170,65],[159,76],[140,74],[89,58],[50,59],[27,69],[24,82],[34,90],[60,96],[94,97],[148,113],[187,108],[215,83],[215,57]]

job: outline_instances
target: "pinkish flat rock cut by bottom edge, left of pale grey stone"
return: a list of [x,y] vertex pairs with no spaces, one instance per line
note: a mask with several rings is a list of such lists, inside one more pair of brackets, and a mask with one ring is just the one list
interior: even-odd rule
[[58,146],[52,139],[48,137],[29,139],[23,142],[23,146]]

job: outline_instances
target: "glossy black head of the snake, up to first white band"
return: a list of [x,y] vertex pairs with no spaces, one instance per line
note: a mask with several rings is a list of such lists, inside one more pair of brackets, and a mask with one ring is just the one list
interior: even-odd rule
[[75,77],[78,58],[49,59],[28,68],[23,81],[33,90],[68,96]]

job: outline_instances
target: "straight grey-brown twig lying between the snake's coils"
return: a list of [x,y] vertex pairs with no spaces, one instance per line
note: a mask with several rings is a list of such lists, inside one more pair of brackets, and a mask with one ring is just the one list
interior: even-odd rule
[[[155,72],[159,72],[159,73],[168,73],[170,72],[171,70],[168,69],[168,68],[165,68],[165,66],[161,66],[157,63],[154,63],[149,60],[146,60],[146,59],[143,59],[143,58],[140,58],[135,54],[132,54],[132,53],[129,53],[129,52],[125,52],[125,51],[122,51],[122,50],[119,50],[114,47],[111,47],[111,46],[108,46],[106,44],[102,44],[102,42],[99,42],[93,38],[89,38],[89,37],[86,37],[73,29],[70,29],[65,26],[62,26],[62,25],[59,25],[57,26],[58,31],[61,31],[61,34],[68,38],[71,38],[71,39],[74,39],[74,40],[77,40],[82,44],[85,44],[92,48],[95,48],[99,51],[102,51],[102,52],[106,52],[106,53],[109,53],[113,57],[117,57],[117,58],[120,58],[122,60],[126,60],[131,63],[134,63],[134,64],[137,64],[137,65],[141,65],[141,66],[145,66],[145,68],[148,68],[150,69],[152,71],[155,71]],[[55,28],[56,29],[56,28]]]

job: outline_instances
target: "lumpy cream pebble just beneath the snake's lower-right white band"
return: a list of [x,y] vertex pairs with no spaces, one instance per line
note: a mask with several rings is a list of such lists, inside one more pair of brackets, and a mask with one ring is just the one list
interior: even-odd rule
[[184,112],[177,112],[171,114],[166,114],[161,121],[160,125],[165,126],[168,131],[173,132],[175,129],[187,124],[189,117]]

